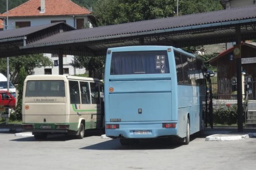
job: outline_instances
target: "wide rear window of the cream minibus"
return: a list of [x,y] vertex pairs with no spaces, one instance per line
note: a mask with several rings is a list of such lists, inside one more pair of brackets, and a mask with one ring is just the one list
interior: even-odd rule
[[63,80],[29,80],[26,97],[65,97]]

